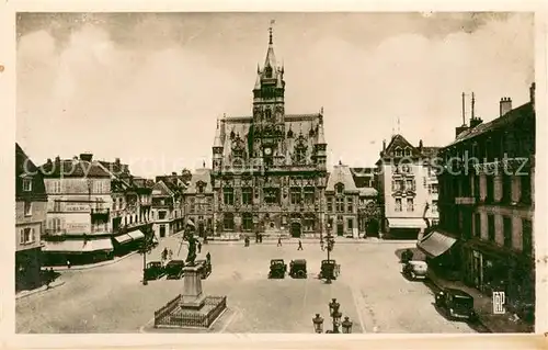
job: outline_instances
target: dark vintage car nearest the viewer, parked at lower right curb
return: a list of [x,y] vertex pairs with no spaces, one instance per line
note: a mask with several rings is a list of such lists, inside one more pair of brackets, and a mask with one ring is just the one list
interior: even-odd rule
[[443,289],[436,293],[435,305],[450,320],[476,321],[478,316],[473,311],[473,297],[457,289]]

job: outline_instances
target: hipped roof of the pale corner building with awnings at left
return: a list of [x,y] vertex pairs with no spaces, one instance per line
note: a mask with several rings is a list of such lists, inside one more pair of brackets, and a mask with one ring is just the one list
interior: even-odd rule
[[44,178],[111,178],[111,174],[96,161],[80,159],[48,161],[39,169]]

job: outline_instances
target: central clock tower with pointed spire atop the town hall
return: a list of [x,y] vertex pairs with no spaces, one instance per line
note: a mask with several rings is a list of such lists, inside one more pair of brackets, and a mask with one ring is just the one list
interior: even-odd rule
[[262,158],[265,166],[284,163],[286,154],[284,121],[284,68],[278,67],[270,27],[269,49],[263,69],[258,66],[253,88],[252,157]]

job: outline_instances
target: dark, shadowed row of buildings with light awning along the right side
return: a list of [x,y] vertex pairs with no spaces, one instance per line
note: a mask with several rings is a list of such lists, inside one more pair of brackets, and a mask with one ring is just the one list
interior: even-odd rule
[[535,117],[533,83],[529,102],[514,109],[503,98],[499,117],[472,113],[456,128],[439,153],[439,225],[418,242],[432,269],[487,295],[504,292],[525,318],[535,303]]

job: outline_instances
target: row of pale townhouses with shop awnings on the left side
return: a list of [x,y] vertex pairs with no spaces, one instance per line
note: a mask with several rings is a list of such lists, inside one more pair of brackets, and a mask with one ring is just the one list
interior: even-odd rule
[[184,226],[184,181],[132,176],[92,154],[37,167],[15,144],[16,289],[39,286],[43,266],[113,259]]

